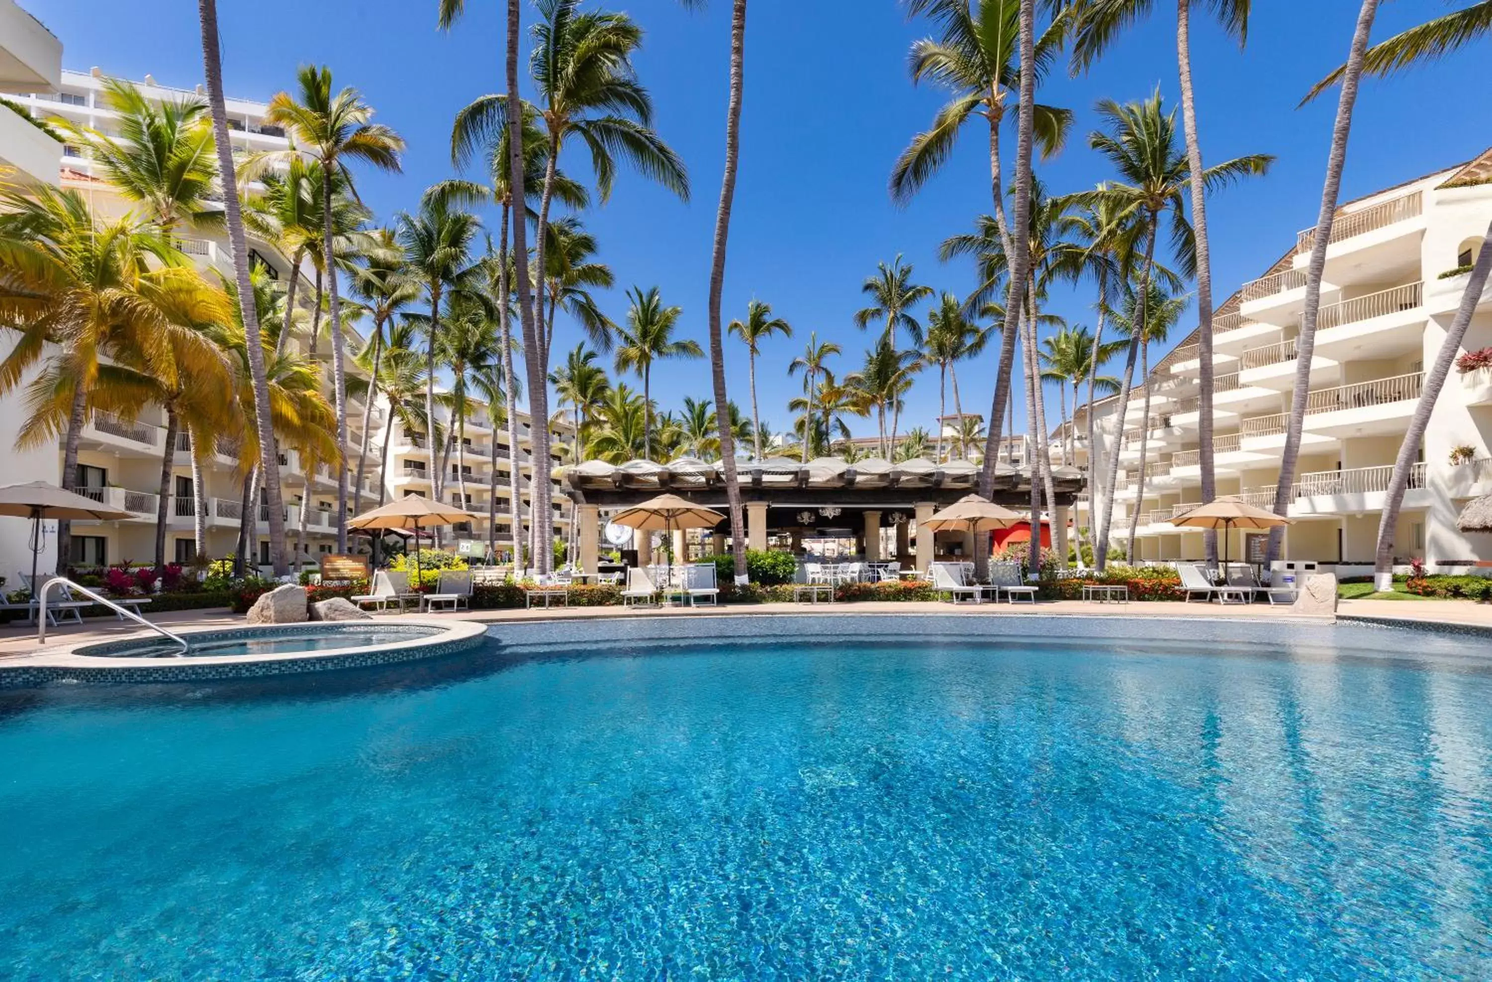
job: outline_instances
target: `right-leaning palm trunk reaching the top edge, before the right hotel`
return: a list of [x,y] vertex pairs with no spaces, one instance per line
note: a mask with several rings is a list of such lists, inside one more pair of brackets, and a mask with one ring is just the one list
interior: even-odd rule
[[[1285,452],[1280,456],[1280,480],[1274,486],[1274,514],[1289,514],[1295,486],[1295,465],[1301,450],[1301,429],[1306,423],[1306,399],[1310,396],[1310,365],[1316,353],[1316,316],[1320,311],[1320,280],[1326,271],[1326,246],[1331,244],[1331,225],[1337,216],[1337,198],[1341,194],[1341,171],[1347,164],[1347,136],[1352,131],[1352,107],[1358,100],[1358,82],[1362,77],[1362,61],[1373,33],[1373,18],[1379,0],[1362,0],[1358,25],[1352,33],[1352,51],[1341,75],[1341,97],[1337,101],[1337,121],[1331,130],[1331,152],[1326,158],[1326,182],[1320,189],[1320,213],[1316,218],[1316,234],[1310,247],[1310,264],[1306,267],[1306,307],[1301,311],[1300,337],[1295,338],[1295,392],[1291,395],[1291,419],[1285,431]],[[1423,398],[1423,396],[1422,396]],[[1416,449],[1417,452],[1417,449]],[[1402,456],[1402,449],[1401,454]],[[1270,547],[1265,568],[1273,568],[1280,557],[1285,528],[1270,529]]]

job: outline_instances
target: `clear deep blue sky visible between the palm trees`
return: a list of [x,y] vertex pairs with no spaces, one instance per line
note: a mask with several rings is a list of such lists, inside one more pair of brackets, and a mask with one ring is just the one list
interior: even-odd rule
[[[64,64],[98,66],[131,79],[146,72],[166,85],[189,88],[201,76],[195,4],[181,0],[78,3],[22,0],[64,45]],[[334,3],[219,3],[224,75],[230,95],[266,100],[292,83],[295,66],[330,64],[340,85],[354,85],[379,109],[382,122],[409,142],[401,176],[363,174],[366,200],[386,221],[415,206],[422,188],[451,174],[451,118],[474,95],[495,91],[503,33],[497,0],[468,0],[454,34],[436,30],[434,0],[340,0]],[[646,30],[637,58],[651,88],[658,128],[682,153],[694,200],[682,204],[624,173],[604,207],[585,216],[601,258],[618,277],[603,298],[613,317],[625,311],[622,291],[658,285],[685,310],[683,332],[704,344],[710,237],[724,158],[724,110],[730,3],[713,0],[689,13],[676,0],[618,1]],[[1077,112],[1074,136],[1055,161],[1038,165],[1049,191],[1061,194],[1107,177],[1088,151],[1092,104],[1103,97],[1141,98],[1156,85],[1176,98],[1173,13],[1128,34],[1112,55],[1080,79],[1056,72],[1040,98]],[[1258,276],[1295,232],[1314,222],[1335,97],[1297,110],[1301,94],[1347,51],[1358,4],[1350,0],[1255,4],[1249,46],[1238,51],[1198,15],[1194,64],[1207,162],[1250,152],[1276,155],[1264,179],[1210,200],[1214,292],[1225,298]],[[1404,0],[1385,4],[1376,39],[1435,16],[1446,4]],[[525,30],[533,12],[525,10]],[[898,252],[918,279],[938,291],[965,292],[967,264],[940,265],[937,244],[989,210],[985,145],[970,131],[950,165],[910,204],[895,207],[886,177],[906,142],[924,128],[941,94],[907,79],[909,45],[928,31],[909,24],[895,0],[752,0],[747,27],[743,153],[725,292],[727,317],[752,297],[791,320],[795,337],[774,340],[758,367],[764,419],[780,431],[785,402],[798,381],[788,361],[810,329],[839,341],[840,371],[858,365],[868,338],[850,317],[859,285],[879,261]],[[525,49],[527,49],[525,39]],[[1358,103],[1344,198],[1467,159],[1492,143],[1492,107],[1480,98],[1476,64],[1485,51],[1428,70],[1368,83]],[[1010,140],[1013,148],[1013,140]],[[1013,156],[1013,153],[1012,153]],[[583,159],[568,159],[585,174]],[[495,224],[495,222],[494,222]],[[1092,297],[1055,295],[1049,308],[1091,323]],[[1194,313],[1188,322],[1194,322]],[[561,326],[557,352],[574,344]],[[746,405],[746,359],[730,349],[731,393]],[[988,413],[994,359],[962,370],[967,410]],[[700,364],[659,367],[653,392],[664,407],[683,395],[709,395]],[[931,426],[937,384],[927,376],[909,405],[909,425]],[[1055,393],[1049,414],[1056,422]],[[873,432],[874,423],[858,423]]]

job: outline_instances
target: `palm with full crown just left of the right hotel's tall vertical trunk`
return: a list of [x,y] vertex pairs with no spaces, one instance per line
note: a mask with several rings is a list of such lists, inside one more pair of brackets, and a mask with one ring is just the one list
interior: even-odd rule
[[[1141,256],[1135,285],[1140,308],[1135,317],[1140,323],[1146,323],[1149,316],[1144,305],[1155,279],[1155,240],[1162,216],[1170,218],[1171,252],[1176,255],[1183,276],[1191,277],[1197,271],[1197,255],[1192,249],[1195,238],[1182,201],[1183,192],[1192,182],[1192,171],[1186,155],[1176,146],[1176,112],[1164,112],[1159,91],[1143,103],[1120,106],[1113,100],[1103,100],[1097,110],[1107,125],[1107,131],[1092,133],[1088,142],[1109,159],[1118,171],[1119,180],[1106,182],[1098,186],[1098,191],[1071,195],[1071,198],[1094,207],[1110,209],[1115,224],[1126,229],[1126,238],[1116,247]],[[1238,156],[1209,167],[1203,171],[1201,180],[1210,188],[1222,188],[1246,176],[1265,173],[1273,159],[1264,153]],[[1129,389],[1134,383],[1134,365],[1138,355],[1140,335],[1135,334],[1129,338],[1125,374],[1119,386],[1119,419],[1123,419],[1123,413],[1129,407]],[[1113,487],[1119,478],[1118,452],[1107,466],[1107,484]],[[1095,563],[1100,571],[1109,551],[1106,544],[1112,520],[1113,496],[1110,495],[1104,502],[1098,526],[1100,548]]]

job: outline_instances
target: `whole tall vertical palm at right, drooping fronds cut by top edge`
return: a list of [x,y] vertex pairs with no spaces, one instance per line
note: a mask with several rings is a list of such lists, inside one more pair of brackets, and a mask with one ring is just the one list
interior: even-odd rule
[[[1086,70],[1103,55],[1115,37],[1129,24],[1143,18],[1152,7],[1152,0],[1077,0],[1077,16],[1073,30],[1073,73]],[[1241,48],[1249,37],[1249,10],[1252,0],[1209,0],[1209,10],[1217,19],[1223,33]],[[1186,137],[1186,165],[1194,174],[1203,168],[1201,140],[1197,136],[1197,95],[1192,88],[1191,52],[1192,0],[1176,3],[1176,61],[1182,88],[1182,122]],[[1192,229],[1197,255],[1197,310],[1198,310],[1198,358],[1201,359],[1201,390],[1198,396],[1198,444],[1201,446],[1203,501],[1212,501],[1217,493],[1213,468],[1213,297],[1212,297],[1212,247],[1207,237],[1207,188],[1194,182],[1191,191]],[[1207,562],[1217,562],[1217,538],[1207,535]],[[1104,550],[1107,551],[1107,550]]]

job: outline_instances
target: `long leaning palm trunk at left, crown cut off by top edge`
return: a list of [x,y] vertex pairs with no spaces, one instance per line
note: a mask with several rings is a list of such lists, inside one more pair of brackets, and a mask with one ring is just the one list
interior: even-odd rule
[[[518,0],[509,0],[516,3]],[[207,79],[207,101],[212,107],[212,130],[218,145],[218,173],[225,188],[236,188],[233,143],[228,139],[228,115],[222,103],[222,54],[218,49],[218,3],[197,0],[201,22],[201,58]],[[243,237],[243,215],[239,210],[239,195],[225,194],[224,212],[228,221],[228,241],[233,246],[233,270],[239,297],[254,297],[249,285],[249,250]],[[264,474],[264,489],[270,504],[270,560],[275,575],[283,577],[289,566],[285,562],[285,516],[280,510],[279,457],[275,452],[275,426],[270,420],[270,389],[264,374],[264,346],[260,334],[258,311],[252,302],[240,304],[243,310],[243,334],[248,338],[249,376],[254,380],[254,422],[260,437],[260,466]]]

